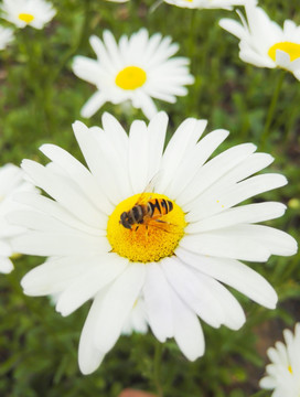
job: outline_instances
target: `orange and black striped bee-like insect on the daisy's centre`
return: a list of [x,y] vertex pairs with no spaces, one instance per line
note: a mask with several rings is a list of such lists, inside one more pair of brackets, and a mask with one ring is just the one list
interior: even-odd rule
[[137,225],[137,230],[139,225],[146,225],[148,227],[150,224],[154,226],[156,222],[167,223],[160,218],[169,214],[172,210],[173,203],[170,200],[151,198],[151,196],[147,200],[143,193],[131,210],[128,212],[125,211],[121,214],[119,223],[128,229],[132,229],[132,226]]

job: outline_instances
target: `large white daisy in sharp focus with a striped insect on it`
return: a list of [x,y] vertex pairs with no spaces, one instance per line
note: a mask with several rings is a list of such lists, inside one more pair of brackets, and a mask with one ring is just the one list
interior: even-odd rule
[[[54,144],[41,151],[46,167],[22,168],[50,196],[20,194],[31,206],[10,216],[29,232],[13,239],[15,250],[49,256],[22,280],[29,296],[60,293],[56,310],[68,315],[93,299],[79,342],[79,367],[94,372],[120,336],[138,299],[154,336],[174,337],[191,361],[204,354],[199,316],[237,330],[245,314],[226,283],[274,309],[272,287],[239,260],[289,256],[288,234],[257,225],[281,216],[286,206],[240,202],[287,183],[276,173],[255,175],[272,162],[239,144],[207,161],[228,132],[203,139],[205,120],[184,120],[163,151],[168,116],[149,126],[132,122],[129,136],[110,115],[103,129],[73,125],[87,167]],[[51,198],[52,197],[52,198]]]

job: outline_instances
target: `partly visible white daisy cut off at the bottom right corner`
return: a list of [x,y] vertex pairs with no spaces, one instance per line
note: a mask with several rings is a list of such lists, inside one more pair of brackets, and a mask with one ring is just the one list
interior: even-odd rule
[[267,351],[271,364],[266,367],[267,375],[259,382],[264,389],[274,389],[272,397],[300,396],[300,323],[283,331],[285,342],[276,342]]

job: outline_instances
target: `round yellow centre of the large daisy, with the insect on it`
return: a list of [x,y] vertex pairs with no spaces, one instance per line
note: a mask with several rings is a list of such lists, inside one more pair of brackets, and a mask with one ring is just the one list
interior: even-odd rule
[[107,238],[114,253],[147,264],[172,256],[185,226],[182,208],[165,195],[135,194],[109,216]]

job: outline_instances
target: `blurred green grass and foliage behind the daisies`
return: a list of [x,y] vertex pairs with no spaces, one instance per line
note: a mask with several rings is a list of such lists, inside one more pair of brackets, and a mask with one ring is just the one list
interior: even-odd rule
[[[281,201],[289,208],[272,221],[294,237],[299,236],[299,100],[300,85],[286,75],[274,120],[266,139],[261,133],[275,90],[278,69],[261,69],[238,58],[237,40],[218,26],[227,11],[191,11],[160,4],[150,12],[152,0],[125,4],[103,0],[53,1],[57,15],[44,30],[17,32],[15,42],[0,53],[0,153],[1,165],[19,164],[23,158],[44,161],[38,148],[55,142],[82,159],[71,125],[94,93],[94,87],[76,78],[71,69],[75,54],[95,56],[89,35],[110,29],[119,37],[146,26],[172,35],[181,56],[192,60],[195,84],[176,104],[158,101],[170,115],[169,133],[186,117],[208,119],[208,129],[225,128],[231,136],[221,150],[253,141],[258,150],[271,153],[269,168],[289,179],[289,185],[268,192],[264,198]],[[261,7],[278,22],[293,18],[300,24],[297,2],[265,0]],[[3,24],[6,24],[3,22]],[[6,24],[8,25],[8,24]],[[124,114],[120,106],[106,104],[90,120],[100,124],[103,111],[113,112],[128,129],[139,110]],[[68,318],[57,314],[47,298],[22,293],[20,280],[39,258],[21,257],[15,270],[0,277],[0,395],[6,397],[116,397],[126,387],[164,397],[264,397],[258,379],[264,374],[266,348],[281,339],[282,329],[299,321],[299,254],[272,257],[266,265],[251,265],[279,294],[278,308],[266,310],[236,293],[247,313],[237,332],[204,325],[206,352],[195,363],[188,362],[171,340],[161,352],[159,374],[154,367],[156,341],[148,335],[122,336],[95,374],[83,376],[77,367],[77,345],[89,304]],[[235,293],[235,292],[234,292]],[[158,386],[160,384],[161,386]]]

